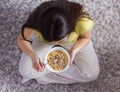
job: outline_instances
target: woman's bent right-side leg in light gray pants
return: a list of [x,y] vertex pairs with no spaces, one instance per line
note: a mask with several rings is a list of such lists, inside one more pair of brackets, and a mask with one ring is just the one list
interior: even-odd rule
[[[53,73],[49,73],[47,76],[52,75]],[[63,83],[74,83],[92,81],[96,79],[98,75],[98,59],[94,52],[92,42],[90,42],[84,49],[77,53],[73,65],[70,66],[67,71],[59,74],[54,74],[54,77],[56,76],[58,78],[63,78],[64,80],[66,79],[66,81],[62,81]]]

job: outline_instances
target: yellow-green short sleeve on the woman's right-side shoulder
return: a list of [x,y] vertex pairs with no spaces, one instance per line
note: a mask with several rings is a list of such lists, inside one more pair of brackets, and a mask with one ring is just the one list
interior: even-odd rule
[[94,25],[94,22],[92,19],[89,18],[81,18],[76,23],[75,32],[77,34],[83,34],[87,31],[90,31]]

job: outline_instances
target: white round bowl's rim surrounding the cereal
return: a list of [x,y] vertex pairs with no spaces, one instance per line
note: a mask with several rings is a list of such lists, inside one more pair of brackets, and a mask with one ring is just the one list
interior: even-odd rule
[[[63,51],[66,55],[67,55],[67,57],[68,57],[68,64],[66,65],[66,67],[64,68],[64,69],[62,69],[62,70],[60,70],[60,71],[56,71],[56,70],[54,70],[49,64],[48,64],[48,61],[47,61],[47,57],[48,57],[48,55],[49,55],[49,53],[51,52],[51,51],[55,51],[55,50],[61,50],[61,51]],[[51,71],[51,72],[55,72],[55,73],[61,73],[61,72],[64,72],[64,71],[66,71],[68,68],[69,68],[69,66],[70,66],[70,55],[69,55],[69,53],[68,53],[68,51],[65,49],[65,48],[63,48],[63,47],[53,47],[53,48],[51,48],[49,51],[48,51],[48,53],[46,54],[46,56],[45,56],[45,64],[46,64],[46,68],[49,70],[49,71]]]

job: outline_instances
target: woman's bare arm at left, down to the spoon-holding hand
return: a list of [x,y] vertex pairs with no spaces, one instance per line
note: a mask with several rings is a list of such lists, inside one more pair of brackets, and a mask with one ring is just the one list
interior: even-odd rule
[[[26,40],[30,40],[33,34],[34,34],[33,29],[24,28],[24,37]],[[40,62],[40,58],[36,55],[36,53],[32,49],[31,43],[29,41],[26,41],[25,39],[23,38],[22,33],[19,33],[17,37],[18,46],[25,54],[27,54],[31,58],[33,69],[35,69],[36,71],[43,71],[44,66]]]

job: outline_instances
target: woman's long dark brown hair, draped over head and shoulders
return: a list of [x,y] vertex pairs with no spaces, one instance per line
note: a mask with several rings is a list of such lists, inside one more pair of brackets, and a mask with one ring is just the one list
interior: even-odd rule
[[22,33],[24,27],[29,27],[40,32],[47,41],[61,40],[74,31],[76,22],[82,15],[81,9],[79,3],[67,0],[44,2],[29,16]]

